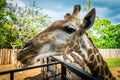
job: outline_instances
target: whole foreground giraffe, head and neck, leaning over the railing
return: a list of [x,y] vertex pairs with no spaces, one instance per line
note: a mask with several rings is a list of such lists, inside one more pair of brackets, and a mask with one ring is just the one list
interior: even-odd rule
[[28,41],[17,54],[17,60],[32,65],[41,58],[78,53],[93,75],[105,80],[115,80],[98,49],[86,33],[95,21],[95,8],[83,19],[77,19],[81,10],[75,5],[72,14],[66,14],[64,20],[55,21],[50,27]]

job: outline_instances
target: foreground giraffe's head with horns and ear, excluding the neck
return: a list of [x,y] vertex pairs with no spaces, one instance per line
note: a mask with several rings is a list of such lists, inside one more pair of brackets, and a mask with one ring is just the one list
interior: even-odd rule
[[95,9],[83,19],[77,19],[80,5],[75,5],[72,14],[67,13],[64,20],[55,21],[50,27],[28,41],[17,54],[17,60],[31,65],[41,58],[63,54],[68,42],[77,34],[84,34],[95,20]]

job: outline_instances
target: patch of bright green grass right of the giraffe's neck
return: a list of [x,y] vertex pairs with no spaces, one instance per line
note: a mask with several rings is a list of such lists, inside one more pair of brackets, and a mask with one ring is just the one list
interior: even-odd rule
[[105,58],[104,60],[107,62],[110,69],[120,67],[120,58]]

